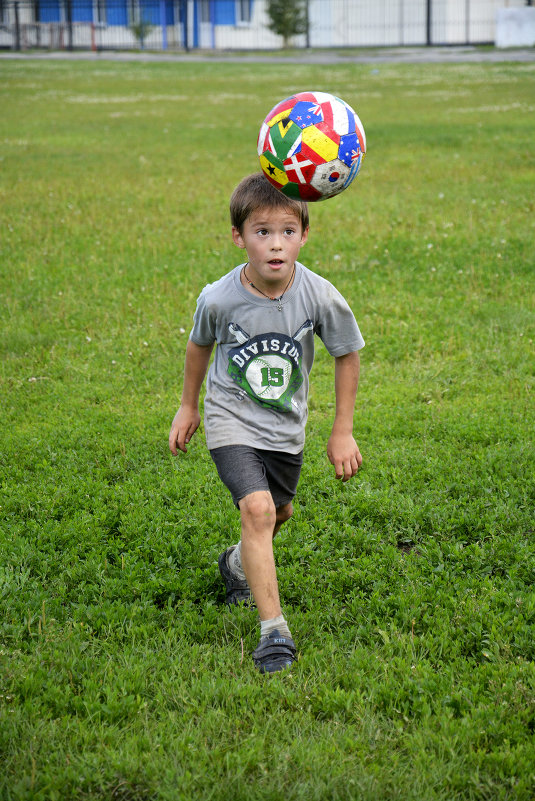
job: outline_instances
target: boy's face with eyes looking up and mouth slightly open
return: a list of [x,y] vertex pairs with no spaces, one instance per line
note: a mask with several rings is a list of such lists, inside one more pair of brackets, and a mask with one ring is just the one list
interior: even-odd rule
[[241,232],[232,228],[234,244],[247,251],[249,279],[271,295],[284,291],[307,238],[308,228],[286,209],[257,209]]

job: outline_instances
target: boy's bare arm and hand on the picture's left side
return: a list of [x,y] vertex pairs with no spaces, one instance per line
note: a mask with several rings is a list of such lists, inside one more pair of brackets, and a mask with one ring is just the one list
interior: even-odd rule
[[175,455],[177,448],[184,453],[187,452],[186,445],[199,428],[201,422],[199,394],[213,347],[213,345],[196,345],[191,339],[188,340],[182,399],[169,433],[169,447]]

